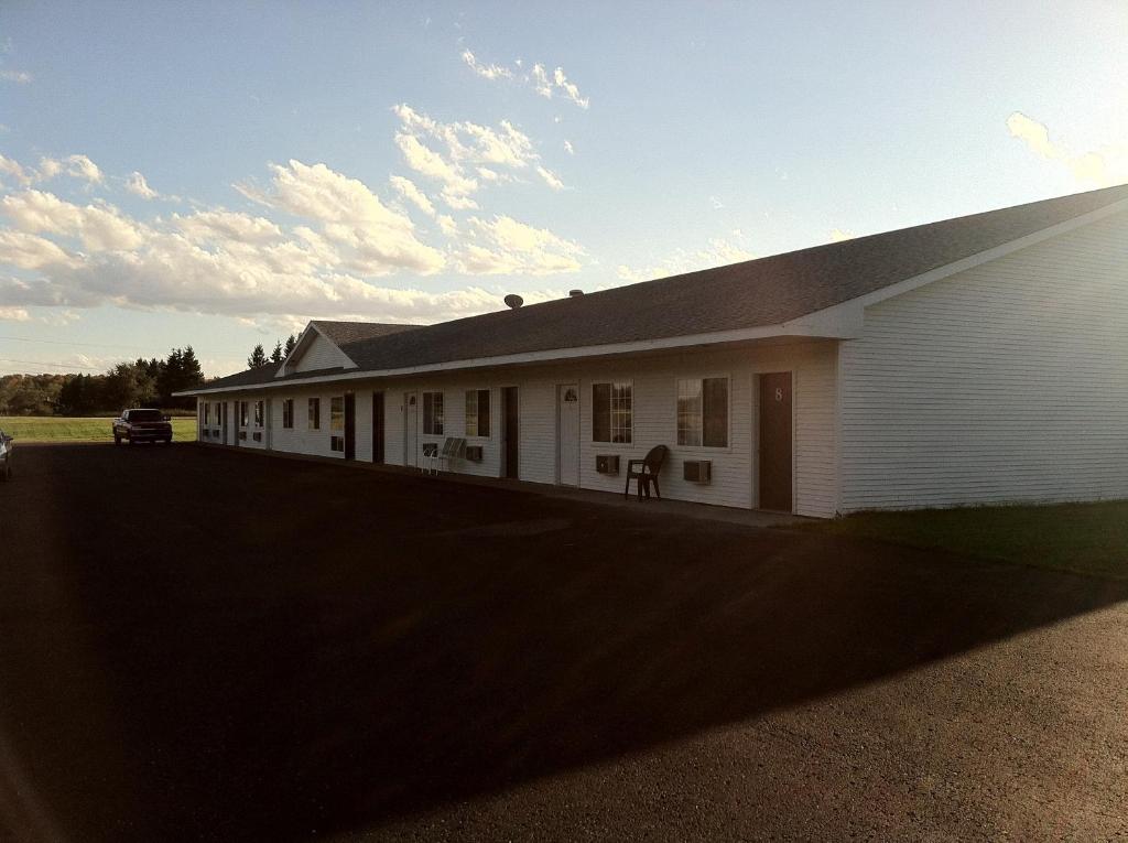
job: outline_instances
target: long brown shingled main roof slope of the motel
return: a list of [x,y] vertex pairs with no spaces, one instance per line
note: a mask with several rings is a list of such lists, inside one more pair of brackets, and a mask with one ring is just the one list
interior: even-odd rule
[[[1125,199],[1120,185],[425,327],[317,324],[353,326],[335,330],[362,370],[779,325]],[[363,335],[365,325],[414,330]],[[246,375],[203,388],[246,385],[236,380]]]

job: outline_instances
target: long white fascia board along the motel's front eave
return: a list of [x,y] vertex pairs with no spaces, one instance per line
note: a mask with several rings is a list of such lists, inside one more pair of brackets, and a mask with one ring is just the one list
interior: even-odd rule
[[292,378],[282,384],[253,384],[248,386],[222,386],[215,389],[191,389],[175,395],[211,395],[217,393],[245,393],[257,389],[276,389],[282,386],[307,386],[310,384],[331,384],[343,380],[377,380],[390,377],[407,377],[434,371],[458,371],[461,369],[484,369],[500,366],[518,366],[528,363],[553,363],[591,357],[609,357],[614,354],[633,354],[646,351],[686,349],[698,345],[719,345],[724,343],[748,342],[752,340],[769,340],[773,337],[810,337],[812,340],[846,340],[857,336],[861,322],[857,314],[841,311],[823,315],[820,319],[803,317],[782,325],[765,325],[735,331],[717,331],[710,334],[690,334],[687,336],[669,336],[661,340],[638,340],[636,342],[608,343],[606,345],[584,345],[574,349],[549,349],[547,351],[530,351],[521,354],[503,354],[500,357],[483,357],[469,360],[451,360],[425,366],[408,366],[400,369],[365,369],[363,371],[346,371],[334,375],[319,375],[310,378]]

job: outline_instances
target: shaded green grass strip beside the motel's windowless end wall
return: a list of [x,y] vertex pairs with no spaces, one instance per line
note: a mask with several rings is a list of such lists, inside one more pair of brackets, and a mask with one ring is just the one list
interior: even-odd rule
[[1128,579],[1128,501],[862,512],[812,529]]

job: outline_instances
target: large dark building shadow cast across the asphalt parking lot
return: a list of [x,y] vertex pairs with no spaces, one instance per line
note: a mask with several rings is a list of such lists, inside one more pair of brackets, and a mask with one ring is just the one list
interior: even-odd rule
[[1128,598],[200,446],[21,456],[0,723],[76,838],[367,827]]

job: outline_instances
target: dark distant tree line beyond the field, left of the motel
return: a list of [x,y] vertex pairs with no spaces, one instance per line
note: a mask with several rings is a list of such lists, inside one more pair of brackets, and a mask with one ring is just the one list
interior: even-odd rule
[[6,375],[0,377],[0,415],[114,414],[126,407],[191,410],[195,398],[173,393],[204,383],[192,346],[165,360],[138,358],[105,375]]

